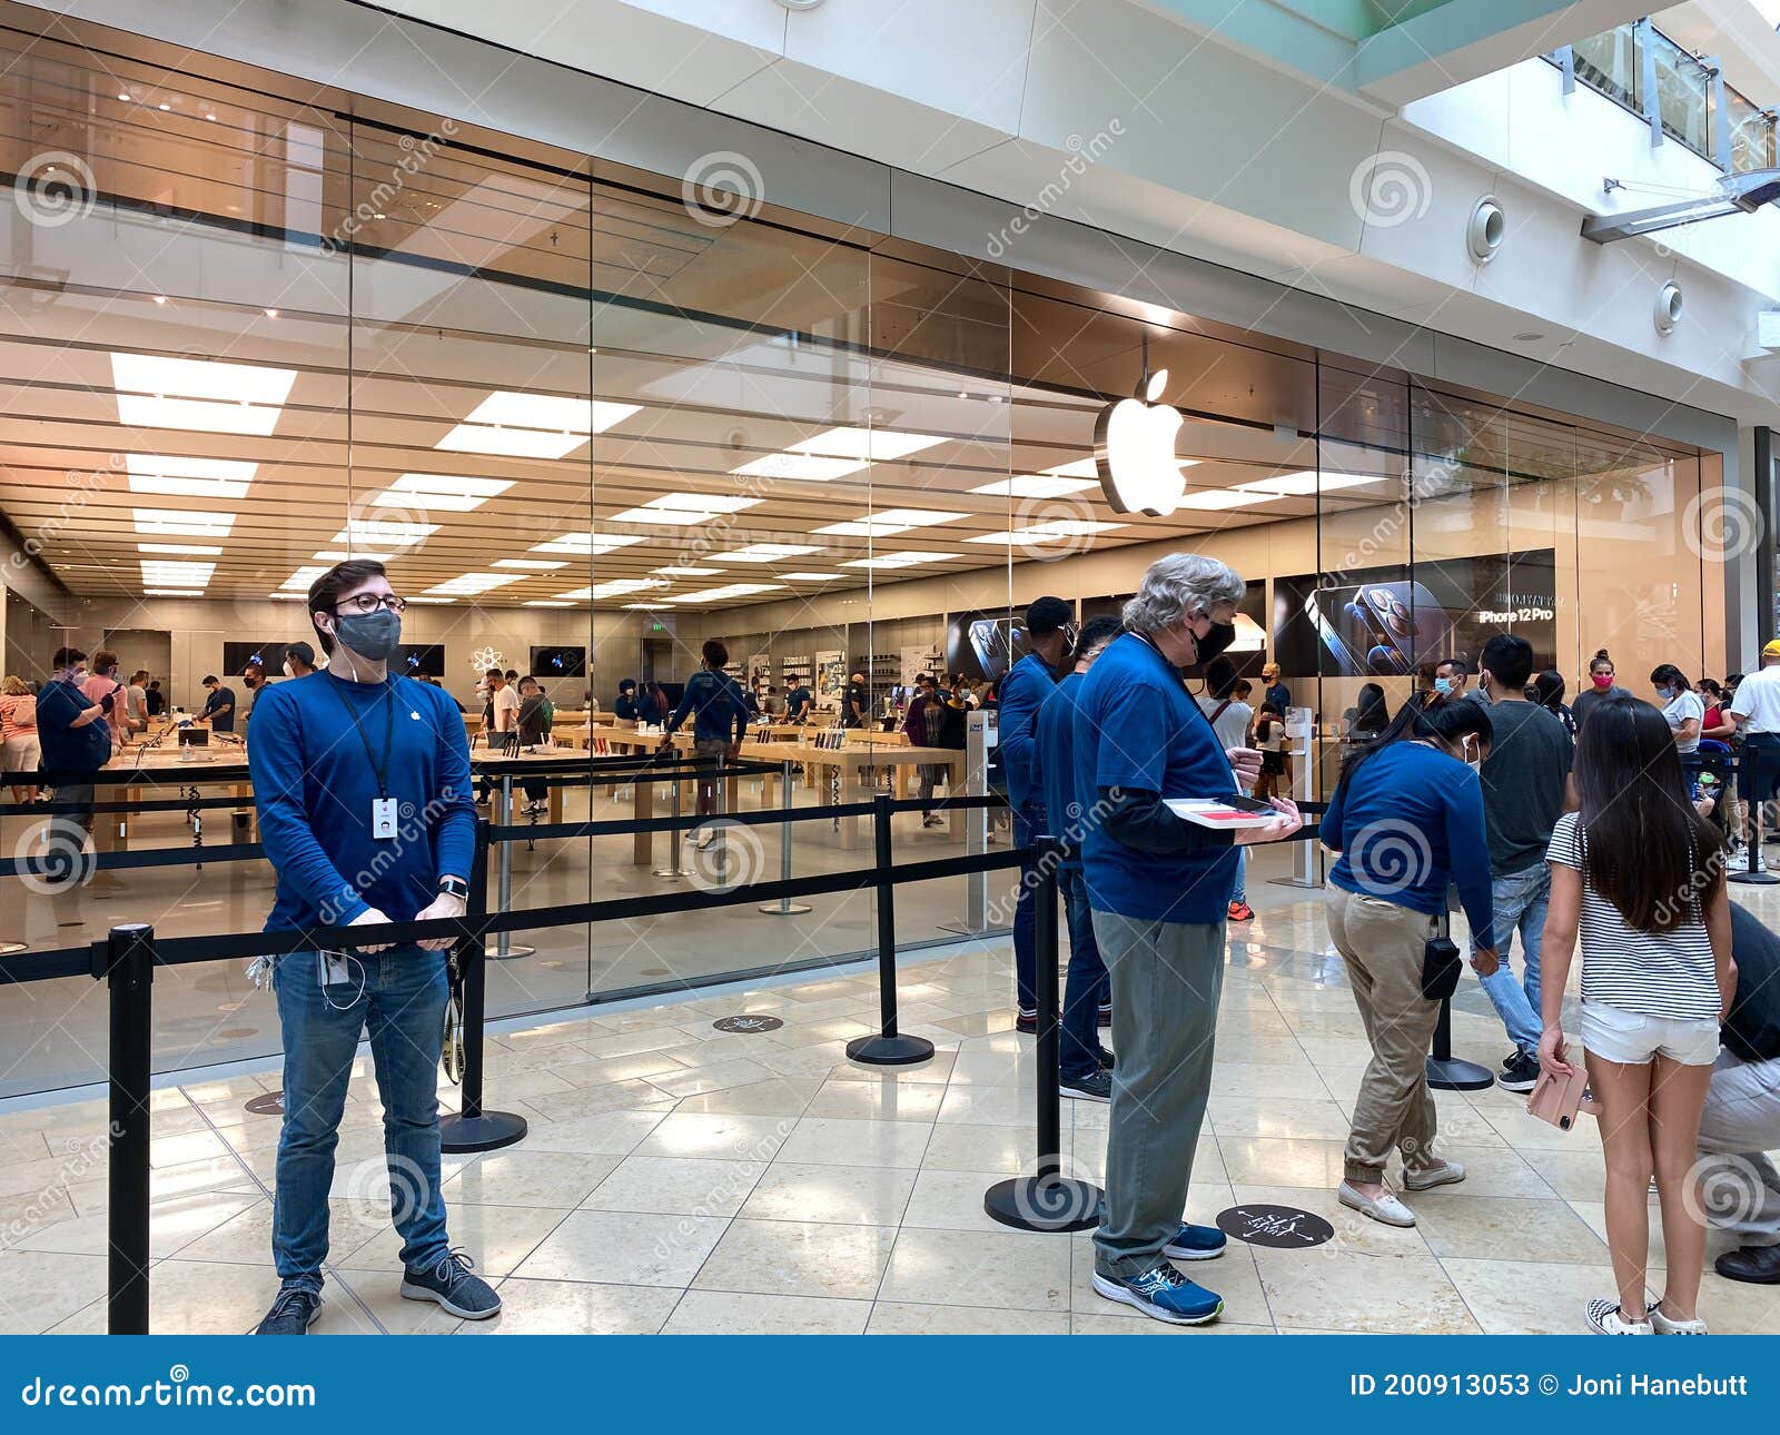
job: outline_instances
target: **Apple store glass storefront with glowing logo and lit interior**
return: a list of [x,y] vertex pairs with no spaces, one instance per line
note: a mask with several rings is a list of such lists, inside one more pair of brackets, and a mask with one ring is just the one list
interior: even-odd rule
[[[477,732],[484,669],[532,675],[561,753],[591,764],[653,746],[612,721],[619,687],[637,684],[653,719],[655,689],[675,701],[707,639],[769,710],[806,687],[821,726],[858,673],[894,728],[920,673],[991,687],[1032,598],[1116,614],[1148,563],[1191,548],[1248,580],[1234,657],[1257,678],[1282,664],[1314,718],[1305,767],[1323,796],[1365,682],[1396,705],[1488,632],[1525,634],[1572,691],[1602,646],[1634,687],[1657,662],[1698,673],[1723,650],[1723,586],[1689,539],[1716,454],[1536,393],[1461,392],[687,198],[678,176],[449,119],[367,101],[344,118],[276,98],[274,75],[235,87],[192,61],[171,73],[0,39],[18,176],[0,228],[0,513],[28,550],[5,564],[4,632],[5,673],[27,682],[73,643],[146,669],[171,709],[201,709],[215,677],[247,710],[246,664],[276,678],[283,645],[313,641],[313,577],[376,555],[409,604],[411,677],[441,684]],[[240,726],[251,742],[251,716]],[[917,792],[934,766],[942,794],[963,783],[961,762],[899,762],[895,737],[846,741],[837,758],[773,734],[794,805]],[[514,790],[513,823],[623,821],[637,787],[589,767],[538,812]],[[762,776],[732,794],[783,799]],[[226,808],[201,815],[201,830],[180,810],[101,819],[98,842],[196,855],[251,831]],[[28,853],[37,826],[9,805],[0,844]],[[869,831],[790,831],[797,876],[870,860]],[[776,878],[780,840],[746,828],[716,880]],[[967,840],[961,823],[895,819],[897,860]],[[1266,855],[1250,881],[1290,862]],[[491,899],[689,890],[714,880],[700,863],[668,833],[520,840],[493,863]],[[1006,926],[1011,885],[975,906],[961,878],[902,887],[897,938]],[[125,869],[73,917],[7,878],[0,938],[66,947],[117,920],[253,931],[271,899],[263,862]],[[872,949],[870,892],[808,906],[516,933],[490,1011]],[[103,988],[64,986],[7,1001],[0,1093],[98,1075]],[[240,963],[157,977],[157,1066],[276,1045],[272,999]]]

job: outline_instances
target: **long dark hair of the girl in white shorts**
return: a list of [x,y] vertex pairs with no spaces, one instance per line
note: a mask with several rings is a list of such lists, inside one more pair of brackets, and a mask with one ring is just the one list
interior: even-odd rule
[[[1650,703],[1600,703],[1575,739],[1582,872],[1636,931],[1673,931],[1725,880],[1723,837],[1687,799],[1675,735]],[[1707,880],[1702,880],[1702,874]]]

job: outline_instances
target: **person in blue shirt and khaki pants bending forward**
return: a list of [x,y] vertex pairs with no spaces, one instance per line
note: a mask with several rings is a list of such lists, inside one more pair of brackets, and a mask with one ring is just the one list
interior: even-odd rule
[[1428,1091],[1428,1043],[1440,1002],[1424,995],[1424,963],[1447,887],[1458,883],[1470,919],[1472,965],[1495,972],[1490,846],[1483,792],[1465,764],[1467,742],[1490,746],[1483,703],[1426,693],[1410,698],[1385,735],[1351,751],[1317,830],[1340,853],[1330,869],[1330,938],[1347,963],[1372,1059],[1360,1079],[1335,1198],[1385,1225],[1415,1225],[1385,1186],[1385,1163],[1403,1154],[1403,1184],[1426,1191],[1465,1179],[1435,1155],[1438,1120]]

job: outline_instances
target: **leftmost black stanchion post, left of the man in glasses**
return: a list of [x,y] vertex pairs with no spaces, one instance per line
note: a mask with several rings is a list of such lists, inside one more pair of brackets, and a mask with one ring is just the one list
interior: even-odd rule
[[105,1239],[105,1330],[148,1335],[148,1081],[153,1033],[155,929],[130,922],[110,929],[105,985],[110,988],[110,1166]]

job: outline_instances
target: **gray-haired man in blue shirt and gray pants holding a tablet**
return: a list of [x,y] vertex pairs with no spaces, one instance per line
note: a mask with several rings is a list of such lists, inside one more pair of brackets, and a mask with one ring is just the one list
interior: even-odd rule
[[1125,604],[1075,694],[1075,801],[1095,940],[1112,979],[1118,1066],[1107,1123],[1107,1216],[1095,1232],[1095,1291],[1171,1325],[1203,1325],[1223,1300],[1173,1261],[1221,1255],[1216,1227],[1184,1225],[1193,1155],[1210,1093],[1223,990],[1225,917],[1239,842],[1301,826],[1298,808],[1239,831],[1198,826],[1171,798],[1223,798],[1260,771],[1260,753],[1225,748],[1187,694],[1235,637],[1242,579],[1216,559],[1159,559]]

